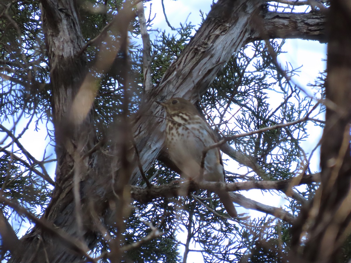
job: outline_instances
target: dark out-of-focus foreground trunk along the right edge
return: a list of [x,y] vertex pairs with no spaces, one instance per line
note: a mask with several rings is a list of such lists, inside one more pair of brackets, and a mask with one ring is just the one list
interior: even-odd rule
[[[326,107],[321,187],[293,230],[293,244],[303,250],[303,262],[336,262],[338,249],[351,232],[351,9],[345,1],[330,2],[327,25],[326,100],[335,107]],[[307,241],[302,241],[305,235]]]

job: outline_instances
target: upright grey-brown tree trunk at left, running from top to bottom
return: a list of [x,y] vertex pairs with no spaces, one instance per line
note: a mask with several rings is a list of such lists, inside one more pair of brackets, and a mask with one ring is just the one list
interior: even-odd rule
[[[72,169],[77,152],[84,155],[92,148],[94,129],[90,115],[81,123],[68,123],[72,102],[86,71],[84,56],[77,56],[84,46],[75,1],[41,1],[42,28],[50,64],[52,111],[56,140],[56,186],[44,218],[74,238],[80,238],[81,226],[74,213]],[[77,165],[77,164],[76,164]],[[84,243],[95,240],[85,232]],[[10,262],[74,262],[77,254],[48,231],[36,225],[22,239],[21,254]],[[69,252],[68,252],[69,251]]]

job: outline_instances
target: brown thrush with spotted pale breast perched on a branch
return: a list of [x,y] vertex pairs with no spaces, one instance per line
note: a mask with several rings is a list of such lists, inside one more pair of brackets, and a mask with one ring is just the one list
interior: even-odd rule
[[[182,171],[183,176],[196,181],[203,175],[206,181],[225,182],[223,161],[218,148],[207,151],[201,169],[203,150],[217,140],[210,125],[195,106],[178,97],[157,103],[166,109],[166,147],[171,160]],[[233,218],[237,217],[228,192],[217,192],[217,195],[228,214]]]

